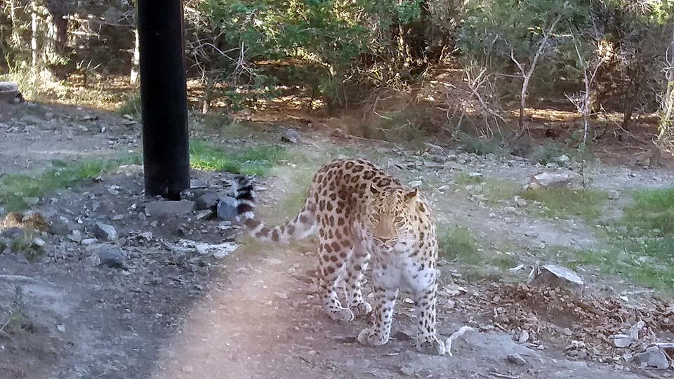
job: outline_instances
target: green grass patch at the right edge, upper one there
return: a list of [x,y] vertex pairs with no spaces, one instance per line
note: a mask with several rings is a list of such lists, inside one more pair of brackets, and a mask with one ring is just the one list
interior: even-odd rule
[[639,227],[657,237],[674,234],[674,188],[634,193],[634,203],[625,210],[623,225]]

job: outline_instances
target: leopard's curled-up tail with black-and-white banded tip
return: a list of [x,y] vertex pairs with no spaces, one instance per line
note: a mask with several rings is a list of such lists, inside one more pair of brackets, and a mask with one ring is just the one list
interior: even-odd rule
[[246,227],[249,234],[260,241],[287,243],[303,239],[312,234],[316,227],[316,206],[308,196],[302,210],[285,225],[267,227],[258,220],[255,213],[255,190],[251,180],[244,176],[234,178],[234,197],[237,200],[236,221]]

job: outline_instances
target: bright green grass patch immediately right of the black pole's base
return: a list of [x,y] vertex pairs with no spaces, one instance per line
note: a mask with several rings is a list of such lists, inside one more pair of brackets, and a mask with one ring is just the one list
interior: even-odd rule
[[234,152],[225,149],[209,142],[191,140],[190,165],[199,170],[265,176],[272,166],[286,157],[282,147],[249,147]]

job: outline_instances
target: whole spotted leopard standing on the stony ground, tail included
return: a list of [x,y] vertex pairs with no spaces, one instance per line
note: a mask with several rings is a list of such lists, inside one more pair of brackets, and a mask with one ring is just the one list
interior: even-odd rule
[[[399,290],[414,300],[416,349],[442,355],[437,338],[437,251],[435,222],[428,200],[382,168],[364,159],[338,159],[315,173],[295,218],[267,227],[256,216],[251,179],[234,178],[235,222],[258,241],[287,244],[316,234],[319,297],[334,321],[370,315],[357,336],[362,345],[388,343]],[[371,264],[374,310],[362,294]],[[345,304],[337,294],[343,284]]]

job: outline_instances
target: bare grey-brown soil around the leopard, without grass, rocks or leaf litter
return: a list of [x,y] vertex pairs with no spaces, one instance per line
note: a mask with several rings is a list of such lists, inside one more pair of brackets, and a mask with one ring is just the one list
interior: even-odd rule
[[[53,159],[118,157],[138,151],[140,126],[116,114],[23,103],[0,114],[0,173],[47,167]],[[5,109],[9,109],[5,112]],[[194,133],[213,133],[196,130]],[[231,144],[280,143],[282,129]],[[489,159],[454,151],[459,166],[425,166],[414,154],[386,142],[346,140],[303,131],[300,149],[326,160],[333,147],[349,147],[376,160],[404,180],[424,181],[440,223],[468,225],[486,241],[513,241],[517,258],[536,260],[541,244],[591,246],[595,236],[580,220],[544,221],[508,213],[459,192],[431,189],[456,171],[480,171],[522,185],[541,171],[522,159]],[[462,158],[463,157],[463,158]],[[463,159],[463,160],[462,160]],[[286,165],[292,168],[292,163]],[[282,173],[289,173],[283,175]],[[260,180],[261,208],[273,213],[294,178],[292,170]],[[604,189],[661,187],[667,168],[603,166],[591,169],[593,186]],[[225,191],[228,173],[192,172],[209,189]],[[450,183],[451,184],[451,183]],[[429,187],[430,186],[430,187]],[[190,197],[201,192],[192,191]],[[44,233],[46,253],[34,261],[0,252],[0,378],[669,378],[611,357],[589,361],[569,357],[570,340],[536,335],[518,342],[521,331],[494,328],[491,305],[472,304],[489,282],[469,282],[451,265],[442,268],[438,327],[448,337],[473,326],[454,342],[452,355],[418,354],[410,336],[411,304],[401,294],[394,338],[383,347],[363,347],[355,336],[361,318],[336,324],[320,310],[312,269],[315,240],[290,246],[261,246],[227,222],[148,217],[143,205],[142,168],[124,166],[100,180],[50,194],[35,210],[49,220],[69,222],[65,233]],[[507,205],[507,204],[504,204]],[[271,209],[271,211],[270,211]],[[72,241],[79,230],[93,234],[95,222],[113,225],[119,239],[102,244],[124,251],[122,267],[93,265],[91,246]],[[535,233],[531,233],[531,232]],[[176,248],[181,240],[232,244],[224,257]],[[95,248],[95,245],[94,245]],[[528,271],[527,271],[528,273]],[[517,280],[526,281],[521,272]],[[590,290],[639,289],[587,274]],[[366,286],[368,288],[368,286]],[[617,291],[617,290],[616,290]],[[369,293],[369,289],[366,289]],[[619,293],[612,293],[619,295]],[[624,295],[624,293],[622,293]],[[643,297],[635,293],[635,298]],[[563,317],[561,317],[563,319]],[[4,324],[4,326],[3,326]],[[564,320],[564,326],[569,324]],[[665,334],[662,334],[663,336]],[[525,363],[506,358],[520,354]]]

